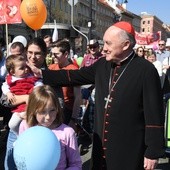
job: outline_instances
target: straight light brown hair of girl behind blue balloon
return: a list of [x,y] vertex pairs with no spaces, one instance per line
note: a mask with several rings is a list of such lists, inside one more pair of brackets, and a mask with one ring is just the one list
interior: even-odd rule
[[54,123],[60,125],[62,123],[62,110],[56,92],[49,85],[38,86],[34,88],[29,95],[28,106],[26,110],[26,121],[29,127],[38,124],[36,114],[44,111],[47,102],[51,101],[56,109],[57,116]]

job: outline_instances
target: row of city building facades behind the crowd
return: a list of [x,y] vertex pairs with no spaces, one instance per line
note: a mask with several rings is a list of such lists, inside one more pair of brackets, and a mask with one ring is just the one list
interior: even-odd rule
[[[86,38],[102,40],[105,30],[120,20],[132,23],[135,30],[140,33],[161,31],[163,39],[170,35],[168,34],[170,29],[165,29],[159,18],[148,14],[133,14],[126,9],[126,4],[121,4],[118,0],[44,0],[44,2],[48,12],[47,20],[42,29],[37,31],[38,35],[52,35],[56,20],[59,38],[69,38],[75,48],[81,45],[83,50],[86,49]],[[2,35],[5,35],[5,28],[1,27]],[[35,36],[34,30],[24,23],[8,25],[8,29],[11,39],[16,35],[24,35],[27,38]]]

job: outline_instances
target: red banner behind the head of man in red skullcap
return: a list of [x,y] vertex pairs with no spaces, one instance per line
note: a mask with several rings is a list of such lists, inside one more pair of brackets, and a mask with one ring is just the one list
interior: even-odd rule
[[138,45],[154,45],[161,39],[161,31],[148,34],[135,32],[135,39]]

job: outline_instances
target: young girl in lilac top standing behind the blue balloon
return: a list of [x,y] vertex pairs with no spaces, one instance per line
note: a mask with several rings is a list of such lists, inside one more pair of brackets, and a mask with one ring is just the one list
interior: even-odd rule
[[82,162],[75,131],[62,123],[62,110],[56,92],[47,85],[36,87],[30,94],[26,120],[21,122],[19,132],[21,134],[37,125],[51,129],[61,143],[61,157],[56,170],[81,170]]

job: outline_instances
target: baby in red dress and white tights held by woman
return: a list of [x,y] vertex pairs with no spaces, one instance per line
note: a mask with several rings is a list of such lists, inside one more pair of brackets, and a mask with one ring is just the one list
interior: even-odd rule
[[[2,84],[2,92],[7,95],[9,102],[15,100],[14,95],[30,94],[33,87],[42,85],[42,81],[34,77],[26,65],[24,55],[10,55],[6,59],[8,75]],[[12,107],[12,117],[9,121],[9,128],[18,134],[19,124],[25,117],[26,104]]]

